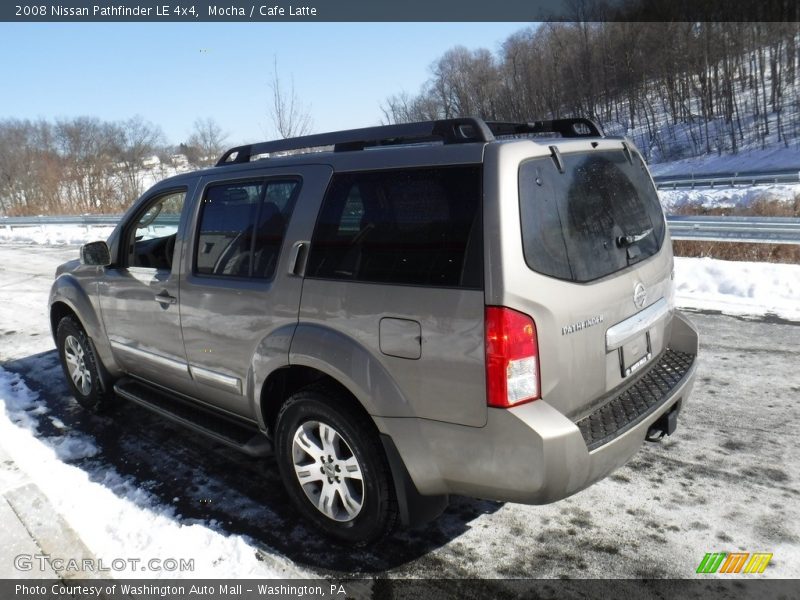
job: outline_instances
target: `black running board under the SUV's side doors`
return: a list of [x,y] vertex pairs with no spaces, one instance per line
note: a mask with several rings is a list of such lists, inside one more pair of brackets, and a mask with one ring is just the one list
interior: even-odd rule
[[128,377],[120,379],[114,385],[114,391],[126,400],[135,402],[249,456],[260,457],[272,454],[272,444],[255,426],[236,421],[210,409],[194,406],[180,396]]

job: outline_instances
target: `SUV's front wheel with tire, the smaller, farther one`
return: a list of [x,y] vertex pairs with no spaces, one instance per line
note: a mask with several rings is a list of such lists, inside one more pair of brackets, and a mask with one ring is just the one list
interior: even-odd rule
[[114,393],[102,384],[102,365],[83,327],[74,318],[64,317],[56,329],[56,343],[61,368],[78,404],[92,412],[109,408]]

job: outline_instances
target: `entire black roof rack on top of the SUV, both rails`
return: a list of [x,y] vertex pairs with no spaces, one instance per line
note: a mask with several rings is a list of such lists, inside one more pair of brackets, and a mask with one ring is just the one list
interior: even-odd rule
[[375,146],[441,142],[468,144],[492,142],[495,136],[532,133],[559,133],[562,137],[603,137],[600,127],[590,119],[571,118],[531,123],[483,121],[474,117],[440,119],[418,123],[381,125],[364,129],[348,129],[301,137],[260,142],[231,148],[217,161],[217,166],[248,163],[254,156],[333,146],[334,152],[363,150]]

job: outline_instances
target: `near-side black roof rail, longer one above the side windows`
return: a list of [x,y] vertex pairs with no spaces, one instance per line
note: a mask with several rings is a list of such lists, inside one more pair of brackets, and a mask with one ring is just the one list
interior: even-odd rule
[[419,123],[401,123],[305,135],[302,137],[260,142],[231,148],[217,161],[217,166],[248,163],[253,156],[289,150],[333,146],[335,152],[363,150],[372,146],[442,142],[467,144],[494,140],[489,127],[481,119],[442,119]]

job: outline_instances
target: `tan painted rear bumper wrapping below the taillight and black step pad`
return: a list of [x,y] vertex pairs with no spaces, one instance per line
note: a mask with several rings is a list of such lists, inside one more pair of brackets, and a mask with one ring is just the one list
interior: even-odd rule
[[[697,351],[685,317],[675,318],[670,345]],[[483,428],[428,419],[376,418],[404,457],[422,494],[461,494],[524,504],[570,496],[625,464],[650,426],[677,403],[685,405],[697,364],[657,410],[611,442],[589,451],[576,424],[547,400],[489,409]]]

